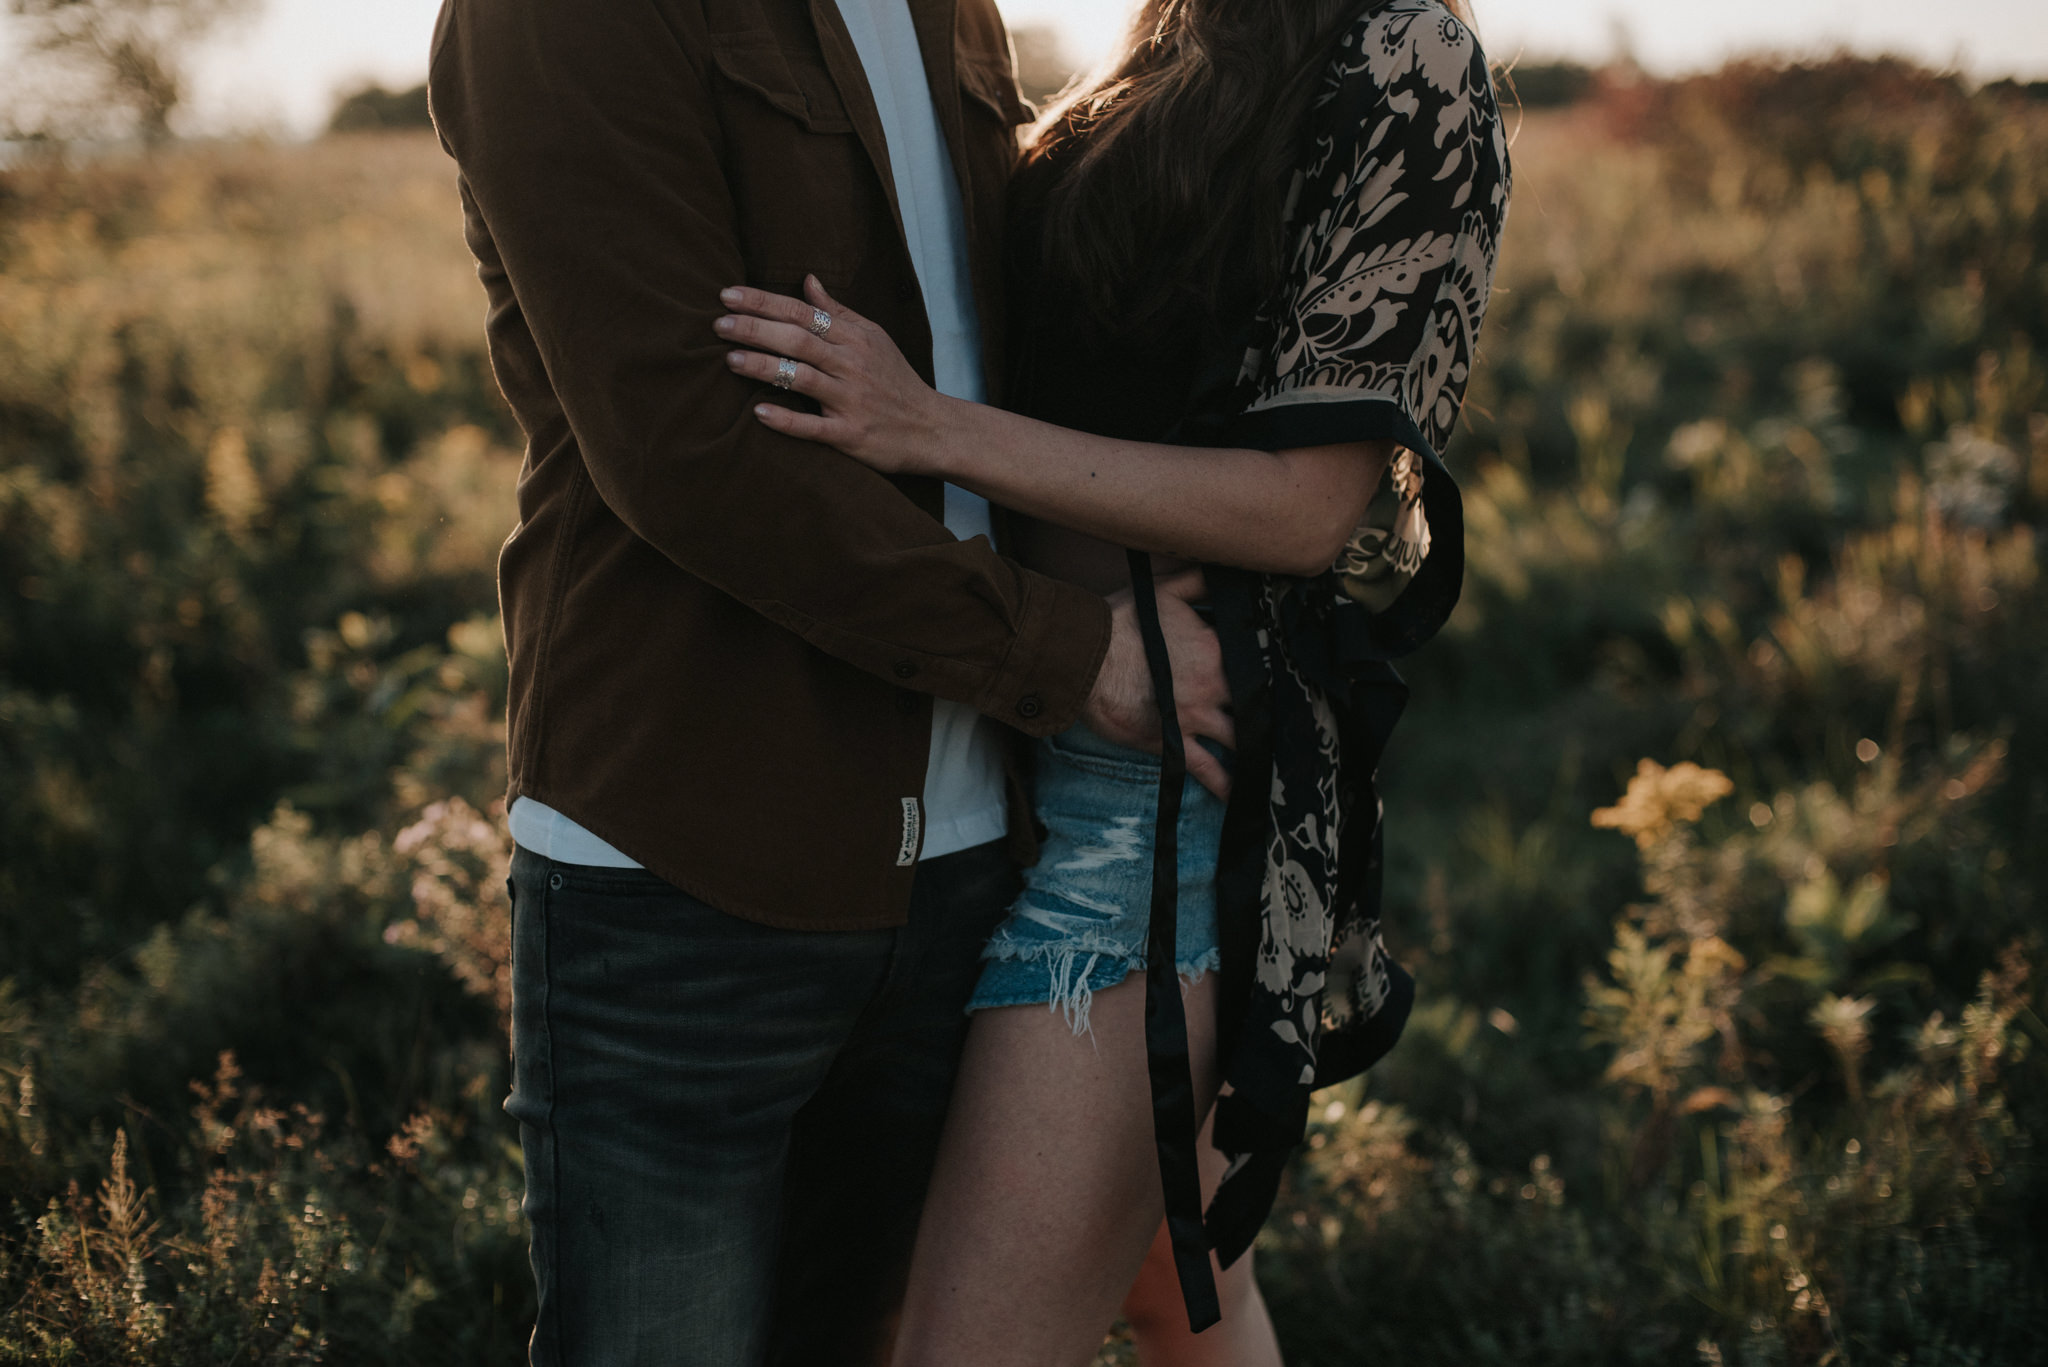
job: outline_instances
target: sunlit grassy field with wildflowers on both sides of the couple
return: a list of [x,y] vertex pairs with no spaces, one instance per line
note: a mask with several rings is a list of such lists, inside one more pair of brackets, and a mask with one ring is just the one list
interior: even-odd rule
[[[1745,66],[1516,164],[1288,1361],[2034,1363],[2048,107]],[[0,174],[0,1363],[524,1340],[479,334],[424,135]]]

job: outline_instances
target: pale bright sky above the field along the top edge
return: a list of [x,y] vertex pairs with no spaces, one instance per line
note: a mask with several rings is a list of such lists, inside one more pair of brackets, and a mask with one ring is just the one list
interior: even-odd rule
[[[596,4],[602,0],[584,0]],[[1116,41],[1124,0],[997,0],[1012,25],[1055,25],[1077,61]],[[1972,76],[2048,78],[2044,0],[1473,0],[1495,59],[1597,61],[1626,43],[1655,72],[1733,53],[1851,47]],[[336,90],[426,74],[438,0],[268,0],[260,18],[201,53],[184,127],[311,133]],[[0,20],[0,25],[14,20]],[[8,33],[0,27],[0,55]]]

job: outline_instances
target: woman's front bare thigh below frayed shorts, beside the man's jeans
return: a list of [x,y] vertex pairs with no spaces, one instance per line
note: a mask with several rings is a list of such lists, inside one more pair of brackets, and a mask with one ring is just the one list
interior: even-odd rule
[[[1196,1115],[1217,1096],[1217,976],[1188,988]],[[1094,1035],[1044,1006],[975,1014],[918,1226],[897,1367],[1085,1367],[1163,1219],[1145,980]]]

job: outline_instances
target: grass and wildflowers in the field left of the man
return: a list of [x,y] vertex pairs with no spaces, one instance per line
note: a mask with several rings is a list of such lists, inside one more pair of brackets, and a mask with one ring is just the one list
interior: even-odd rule
[[399,139],[0,191],[0,1361],[524,1340],[451,215]]

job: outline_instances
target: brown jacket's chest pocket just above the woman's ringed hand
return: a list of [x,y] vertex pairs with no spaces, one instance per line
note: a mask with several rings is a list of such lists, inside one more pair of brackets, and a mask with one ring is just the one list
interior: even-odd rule
[[844,281],[889,207],[874,203],[879,187],[831,74],[752,33],[713,35],[711,61],[739,254],[754,283],[784,287],[807,271]]

